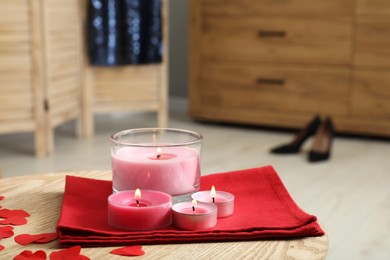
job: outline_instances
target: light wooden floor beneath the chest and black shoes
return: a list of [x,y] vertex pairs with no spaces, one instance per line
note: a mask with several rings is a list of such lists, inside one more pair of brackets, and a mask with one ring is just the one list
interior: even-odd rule
[[[170,127],[203,134],[203,174],[273,165],[297,204],[328,232],[328,259],[390,259],[390,141],[336,137],[331,160],[311,164],[311,140],[300,154],[276,156],[269,149],[292,132],[194,122],[184,110],[185,102],[173,104]],[[32,155],[32,134],[0,135],[3,177],[110,169],[109,135],[155,122],[148,113],[97,116],[88,140],[77,139],[69,123],[56,130],[55,153],[42,159]]]

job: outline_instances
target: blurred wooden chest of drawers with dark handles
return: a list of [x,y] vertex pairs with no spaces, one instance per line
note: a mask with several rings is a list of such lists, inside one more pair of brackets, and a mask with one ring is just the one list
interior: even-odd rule
[[390,136],[390,1],[193,0],[190,114]]

